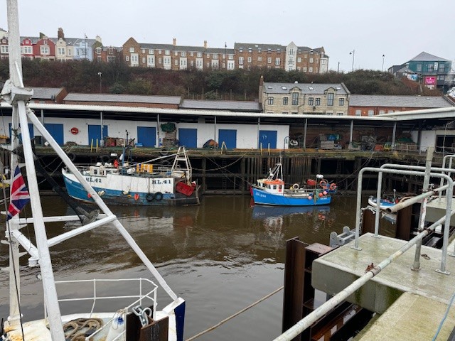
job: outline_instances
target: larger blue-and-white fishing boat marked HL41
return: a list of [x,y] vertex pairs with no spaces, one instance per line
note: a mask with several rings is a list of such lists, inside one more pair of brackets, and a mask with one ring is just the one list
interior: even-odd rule
[[[124,155],[124,154],[122,154]],[[172,158],[172,164],[159,164]],[[121,156],[122,158],[122,156]],[[167,159],[166,159],[167,158]],[[158,165],[158,166],[157,166]],[[191,180],[192,169],[184,147],[175,154],[161,156],[144,163],[97,163],[78,167],[92,188],[86,190],[75,174],[62,169],[68,195],[93,202],[93,193],[111,205],[199,205],[199,187]]]

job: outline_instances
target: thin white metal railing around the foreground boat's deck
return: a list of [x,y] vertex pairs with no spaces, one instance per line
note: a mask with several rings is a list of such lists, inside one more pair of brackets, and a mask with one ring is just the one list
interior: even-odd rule
[[[137,282],[137,286],[133,287],[132,285],[127,286],[127,291],[136,291],[135,293],[133,292],[131,295],[115,295],[115,296],[102,296],[102,292],[109,291],[109,288],[106,288],[106,286],[109,283],[115,283],[115,284],[122,284],[122,283],[131,283],[131,282]],[[77,285],[78,291],[80,291],[81,286],[84,283],[91,284],[92,286],[92,296],[85,296],[85,297],[72,297],[72,298],[58,298],[59,303],[64,303],[64,302],[75,302],[75,301],[92,301],[92,308],[90,310],[90,315],[92,315],[95,312],[95,305],[98,303],[98,301],[118,301],[121,299],[132,299],[134,300],[132,303],[130,303],[127,306],[120,307],[120,309],[124,310],[125,312],[128,312],[131,310],[131,308],[137,306],[137,305],[144,305],[146,304],[147,306],[153,305],[153,317],[156,318],[156,289],[158,286],[152,281],[150,281],[147,278],[122,278],[122,279],[87,279],[87,280],[75,280],[75,281],[55,281],[55,284],[58,288],[61,288],[62,286],[65,285]],[[99,286],[102,286],[101,290],[99,289]],[[110,289],[111,291],[114,290],[114,288]],[[115,290],[119,290],[118,288]],[[144,291],[146,293],[144,293]],[[67,292],[67,291],[65,291]],[[98,309],[98,311],[100,311]],[[88,312],[83,312],[83,313],[88,313]],[[44,310],[44,315],[47,318],[48,314],[47,311]]]

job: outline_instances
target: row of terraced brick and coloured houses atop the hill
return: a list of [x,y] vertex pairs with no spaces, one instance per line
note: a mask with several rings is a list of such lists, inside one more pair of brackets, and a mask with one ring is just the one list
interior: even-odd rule
[[[23,58],[48,60],[100,60],[113,62],[121,58],[132,67],[158,67],[165,70],[237,70],[269,67],[297,70],[311,74],[328,71],[328,55],[323,47],[309,48],[263,43],[235,43],[233,48],[209,48],[205,40],[201,46],[138,43],[129,38],[121,47],[104,46],[100,36],[89,39],[65,38],[58,28],[57,38],[21,37]],[[8,35],[0,30],[0,58],[8,58]]]

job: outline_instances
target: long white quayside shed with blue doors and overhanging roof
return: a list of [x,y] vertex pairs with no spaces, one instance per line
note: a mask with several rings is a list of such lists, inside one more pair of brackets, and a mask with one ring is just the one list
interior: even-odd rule
[[[136,97],[142,102],[134,103]],[[160,147],[164,139],[203,148],[213,139],[220,146],[225,142],[228,149],[355,150],[365,136],[378,144],[396,146],[404,135],[415,144],[415,150],[452,148],[455,108],[446,99],[434,101],[445,107],[367,116],[350,116],[347,108],[343,115],[287,114],[262,112],[265,110],[257,102],[114,94],[68,94],[64,104],[31,102],[29,106],[60,145],[102,144],[106,137],[124,138],[128,132],[135,144],[151,148]],[[0,108],[4,121],[0,135],[11,138],[11,109],[4,102]],[[169,123],[175,131],[166,136],[169,131],[162,125]],[[39,136],[35,128],[30,130],[31,136]],[[333,146],[324,141],[333,141]]]

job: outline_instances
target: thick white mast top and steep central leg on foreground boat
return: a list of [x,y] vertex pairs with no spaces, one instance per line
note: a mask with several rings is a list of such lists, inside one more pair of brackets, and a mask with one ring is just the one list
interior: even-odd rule
[[[50,253],[48,239],[43,222],[43,210],[38,192],[38,182],[36,180],[36,169],[33,160],[33,151],[31,148],[30,132],[28,131],[28,121],[26,114],[26,102],[31,99],[33,90],[27,90],[23,87],[22,82],[22,64],[21,64],[21,46],[19,36],[18,5],[17,0],[7,0],[8,12],[8,31],[9,31],[9,75],[10,79],[6,81],[2,94],[4,99],[13,107],[12,129],[18,128],[20,123],[23,153],[26,161],[26,171],[28,178],[28,190],[31,197],[31,209],[33,214],[33,227],[36,234],[36,246],[38,247],[39,264],[41,277],[43,281],[44,301],[46,311],[48,312],[48,321],[50,335],[52,340],[65,340],[63,333],[63,324],[58,305],[57,290],[55,288],[54,274],[50,262]],[[17,134],[12,139],[13,147],[18,146]],[[17,157],[11,160],[11,166],[16,166]],[[12,162],[15,162],[13,164]],[[14,171],[14,168],[12,168]],[[12,186],[11,186],[12,187]],[[14,218],[13,218],[14,219]],[[18,263],[15,264],[16,267]],[[10,264],[11,266],[11,264]],[[10,290],[11,292],[11,290]],[[17,301],[16,301],[17,304]]]

